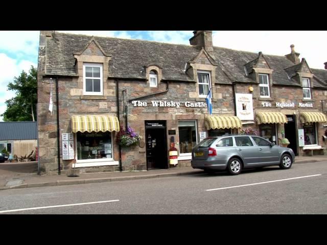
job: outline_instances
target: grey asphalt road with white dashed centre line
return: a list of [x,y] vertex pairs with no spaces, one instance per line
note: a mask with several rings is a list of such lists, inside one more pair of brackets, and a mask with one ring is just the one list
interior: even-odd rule
[[0,214],[327,214],[327,161],[0,191]]

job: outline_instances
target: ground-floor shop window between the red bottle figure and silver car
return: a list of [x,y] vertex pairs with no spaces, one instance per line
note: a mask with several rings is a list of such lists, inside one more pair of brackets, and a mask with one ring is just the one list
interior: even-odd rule
[[196,145],[195,121],[178,121],[179,155],[185,156],[192,153],[192,148]]

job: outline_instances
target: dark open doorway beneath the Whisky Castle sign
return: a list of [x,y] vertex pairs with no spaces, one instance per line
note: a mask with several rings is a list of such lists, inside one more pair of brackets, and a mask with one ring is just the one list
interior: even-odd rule
[[168,168],[166,121],[145,121],[147,170]]

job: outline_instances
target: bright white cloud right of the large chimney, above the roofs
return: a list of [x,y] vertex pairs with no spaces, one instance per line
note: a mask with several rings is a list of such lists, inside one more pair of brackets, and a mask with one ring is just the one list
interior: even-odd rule
[[324,69],[327,61],[327,31],[215,31],[215,46],[233,50],[284,56],[290,45],[305,58],[311,68]]

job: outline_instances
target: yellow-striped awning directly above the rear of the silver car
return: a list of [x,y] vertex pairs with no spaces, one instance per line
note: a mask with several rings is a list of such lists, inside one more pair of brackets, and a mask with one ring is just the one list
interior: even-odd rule
[[204,125],[207,130],[242,128],[242,122],[237,116],[206,116]]

